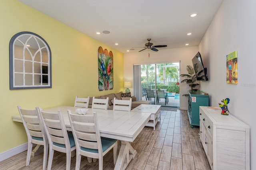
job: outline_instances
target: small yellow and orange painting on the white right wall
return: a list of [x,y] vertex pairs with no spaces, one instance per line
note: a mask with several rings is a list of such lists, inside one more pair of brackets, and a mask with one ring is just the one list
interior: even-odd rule
[[226,81],[229,84],[237,84],[237,51],[226,55]]

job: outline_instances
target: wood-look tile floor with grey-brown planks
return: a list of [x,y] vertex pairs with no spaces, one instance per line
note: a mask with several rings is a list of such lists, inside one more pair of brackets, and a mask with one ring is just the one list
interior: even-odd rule
[[[186,110],[161,110],[161,120],[154,131],[144,127],[131,143],[137,150],[126,170],[210,170],[210,165],[198,138],[199,127],[190,128]],[[25,166],[26,151],[0,162],[0,170],[41,170],[43,153],[31,157]],[[71,159],[75,169],[76,157]],[[113,170],[113,152],[104,156],[104,170]],[[55,152],[52,170],[66,169],[66,154]],[[89,163],[82,156],[80,169],[97,170],[98,161]]]

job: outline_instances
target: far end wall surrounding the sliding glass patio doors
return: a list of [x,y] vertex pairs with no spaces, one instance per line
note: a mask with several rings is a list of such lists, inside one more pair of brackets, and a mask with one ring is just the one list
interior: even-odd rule
[[[197,52],[198,46],[177,49],[159,49],[158,52],[150,50],[150,57],[148,57],[148,50],[140,53],[126,53],[124,54],[124,80],[132,82],[133,84],[133,64],[180,61],[180,74],[187,74],[186,66],[192,66],[192,58]],[[207,65],[205,65],[205,67],[207,67]],[[133,94],[133,87],[130,88],[130,90]],[[188,94],[188,90],[186,83],[180,84],[180,109],[188,109],[188,97],[182,96],[182,94]]]

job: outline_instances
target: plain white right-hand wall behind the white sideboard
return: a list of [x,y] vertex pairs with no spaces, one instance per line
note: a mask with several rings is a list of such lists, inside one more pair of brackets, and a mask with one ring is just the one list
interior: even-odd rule
[[[255,6],[255,0],[224,0],[199,45],[210,79],[201,90],[209,93],[210,105],[230,98],[230,113],[250,126],[251,170],[256,169]],[[233,51],[238,51],[238,84],[227,84],[226,55]]]

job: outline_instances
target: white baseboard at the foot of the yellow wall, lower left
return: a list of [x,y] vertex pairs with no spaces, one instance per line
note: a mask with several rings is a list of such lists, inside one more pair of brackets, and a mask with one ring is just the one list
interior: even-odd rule
[[0,153],[0,161],[6,160],[16,154],[19,154],[28,149],[28,143],[24,143],[18,147],[6,150],[5,152]]

